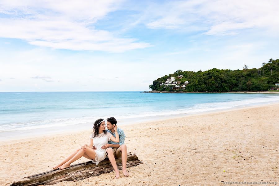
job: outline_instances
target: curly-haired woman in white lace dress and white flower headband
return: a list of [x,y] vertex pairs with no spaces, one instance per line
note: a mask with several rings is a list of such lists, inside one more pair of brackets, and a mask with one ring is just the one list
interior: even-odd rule
[[[77,149],[74,153],[68,156],[63,162],[57,164],[56,166],[52,167],[53,169],[65,169],[70,166],[71,163],[78,160],[79,158],[86,157],[90,159],[96,165],[99,164],[102,160],[106,158],[105,149],[102,149],[102,146],[108,143],[108,141],[112,140],[116,143],[119,143],[119,135],[117,133],[117,126],[114,127],[115,130],[115,137],[105,130],[105,120],[98,119],[95,121],[93,126],[93,131],[90,136],[90,143],[89,145],[84,144],[80,149]],[[93,140],[95,147],[97,150],[93,150]]]

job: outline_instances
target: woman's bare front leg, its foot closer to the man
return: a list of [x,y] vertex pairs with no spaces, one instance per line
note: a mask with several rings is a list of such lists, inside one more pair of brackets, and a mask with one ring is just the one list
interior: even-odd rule
[[79,158],[81,158],[83,155],[85,155],[86,158],[88,159],[95,159],[96,152],[92,148],[86,148],[85,150],[81,149],[76,153],[68,162],[65,162],[62,166],[59,166],[59,169],[65,169],[70,166],[71,163],[74,161],[77,161]]

